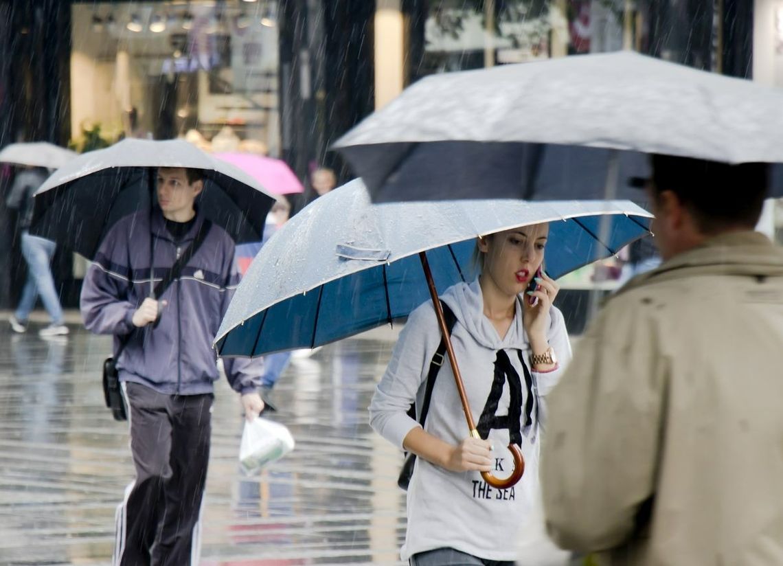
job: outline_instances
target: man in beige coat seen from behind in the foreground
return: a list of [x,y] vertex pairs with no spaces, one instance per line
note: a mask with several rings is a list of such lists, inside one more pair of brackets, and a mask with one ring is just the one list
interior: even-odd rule
[[547,528],[600,564],[783,564],[783,251],[760,164],[653,158],[664,263],[590,325],[548,396]]

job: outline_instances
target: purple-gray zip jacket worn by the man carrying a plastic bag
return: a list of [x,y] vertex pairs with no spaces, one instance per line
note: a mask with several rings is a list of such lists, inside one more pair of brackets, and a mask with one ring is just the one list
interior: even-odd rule
[[[152,227],[150,229],[150,222]],[[204,224],[196,222],[175,243],[160,208],[121,218],[106,234],[81,288],[81,315],[88,330],[130,338],[117,360],[121,381],[143,384],[168,395],[211,393],[218,379],[212,341],[239,283],[234,243],[212,225],[197,253],[158,301],[157,327],[133,326],[133,313],[150,294],[150,236],[153,237],[154,282],[160,281]],[[225,359],[231,387],[242,394],[256,391],[261,362]]]

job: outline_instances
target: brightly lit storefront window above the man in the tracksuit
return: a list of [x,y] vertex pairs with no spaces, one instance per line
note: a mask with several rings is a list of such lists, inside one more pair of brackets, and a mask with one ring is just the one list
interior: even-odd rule
[[72,8],[72,145],[186,137],[280,153],[277,5],[95,2]]

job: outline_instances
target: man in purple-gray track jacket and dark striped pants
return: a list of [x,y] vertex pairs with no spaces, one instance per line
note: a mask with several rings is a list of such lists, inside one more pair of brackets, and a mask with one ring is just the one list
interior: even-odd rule
[[[161,168],[160,207],[128,215],[110,229],[81,290],[85,326],[114,334],[115,348],[120,337],[128,340],[117,368],[136,478],[117,507],[114,564],[121,566],[183,566],[199,557],[218,379],[212,341],[239,280],[233,240],[218,225],[204,225],[194,208],[202,189],[201,171]],[[149,297],[150,277],[164,277],[204,228],[207,236],[179,280],[161,297]],[[245,416],[254,419],[264,408],[258,364],[224,362]]]

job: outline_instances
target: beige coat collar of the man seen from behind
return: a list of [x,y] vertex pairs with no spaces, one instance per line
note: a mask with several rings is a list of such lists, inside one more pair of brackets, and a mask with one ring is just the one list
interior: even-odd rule
[[634,277],[618,294],[693,275],[783,276],[783,249],[758,232],[720,234]]

